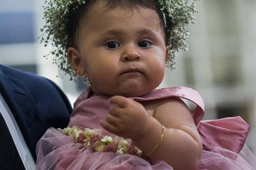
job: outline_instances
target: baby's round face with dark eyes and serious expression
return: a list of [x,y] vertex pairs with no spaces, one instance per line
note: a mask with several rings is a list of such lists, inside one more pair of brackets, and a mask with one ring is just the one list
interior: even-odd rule
[[[83,70],[96,95],[136,97],[162,82],[168,46],[156,11],[92,7],[79,32]],[[105,12],[104,12],[105,11]]]

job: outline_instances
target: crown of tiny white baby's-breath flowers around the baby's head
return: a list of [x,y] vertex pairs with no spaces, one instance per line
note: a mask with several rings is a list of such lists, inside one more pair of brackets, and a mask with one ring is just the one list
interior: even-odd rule
[[[174,58],[179,49],[188,50],[186,41],[189,38],[189,32],[186,26],[190,23],[195,23],[194,2],[190,0],[155,0],[160,7],[164,16],[164,25],[167,30],[166,38],[169,45],[169,56],[166,66],[170,69],[175,69]],[[86,0],[50,0],[45,1],[47,6],[45,9],[44,18],[46,25],[41,29],[43,34],[40,43],[45,43],[45,47],[50,43],[53,45],[49,55],[53,56],[53,63],[59,67],[58,77],[61,77],[60,70],[65,71],[65,74],[70,75],[70,80],[74,79],[76,74],[72,69],[67,58],[67,50],[72,47],[72,40],[68,33],[68,24],[70,22],[70,14],[75,14],[77,9],[86,3]]]

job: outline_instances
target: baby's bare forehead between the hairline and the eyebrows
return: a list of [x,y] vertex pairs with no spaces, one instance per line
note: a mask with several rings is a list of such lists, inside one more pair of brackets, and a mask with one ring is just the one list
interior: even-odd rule
[[115,9],[100,11],[100,7],[95,7],[91,11],[91,16],[84,23],[87,29],[137,29],[148,27],[152,30],[163,30],[160,17],[151,9],[139,7],[134,10],[117,7]]

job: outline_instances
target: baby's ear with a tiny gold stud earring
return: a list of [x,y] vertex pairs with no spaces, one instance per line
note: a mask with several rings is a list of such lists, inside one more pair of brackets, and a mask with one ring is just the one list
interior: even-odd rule
[[79,51],[77,51],[74,47],[69,47],[67,55],[76,74],[80,76],[84,75],[85,71],[83,69],[83,64],[80,59]]

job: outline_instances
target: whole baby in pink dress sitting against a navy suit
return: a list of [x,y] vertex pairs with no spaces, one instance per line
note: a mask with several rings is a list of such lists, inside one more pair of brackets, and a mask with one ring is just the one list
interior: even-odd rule
[[[66,6],[72,3],[76,2],[67,2]],[[90,84],[74,104],[69,131],[74,126],[101,129],[101,135],[107,136],[104,141],[112,142],[112,148],[118,144],[108,136],[131,139],[144,159],[135,156],[139,152],[129,154],[129,148],[127,154],[118,154],[118,148],[114,152],[85,148],[88,133],[81,128],[73,129],[75,139],[50,128],[37,144],[37,168],[195,170],[199,164],[200,169],[231,166],[228,161],[231,158],[221,149],[232,153],[237,150],[234,153],[238,156],[249,131],[247,124],[240,117],[234,118],[241,125],[232,127],[236,128],[235,136],[243,134],[241,144],[221,145],[219,138],[207,138],[211,135],[209,132],[218,134],[220,127],[199,123],[204,106],[197,92],[185,87],[156,89],[163,80],[166,64],[173,62],[170,53],[181,48],[179,44],[169,44],[172,41],[168,36],[175,29],[175,22],[170,22],[173,9],[168,8],[172,3],[176,8],[182,4],[189,6],[188,2],[88,0],[77,3],[66,11],[79,10],[69,16],[70,22],[66,24],[69,43],[63,47],[67,50],[53,53],[67,55],[69,61],[62,58],[68,63],[67,68],[63,63],[60,67],[72,75],[71,64],[75,73],[85,75]],[[169,15],[164,15],[164,11],[169,11]],[[193,115],[180,97],[196,103]],[[210,126],[211,129],[207,129]],[[228,131],[228,127],[230,124],[222,129]],[[103,147],[105,145],[108,143]],[[215,150],[215,147],[221,149]],[[216,155],[209,152],[214,150]],[[203,162],[214,160],[220,152],[223,153],[221,164],[217,160],[215,165]],[[209,153],[211,156],[207,156]],[[233,161],[235,165],[236,160]],[[244,164],[247,165],[246,161]]]

